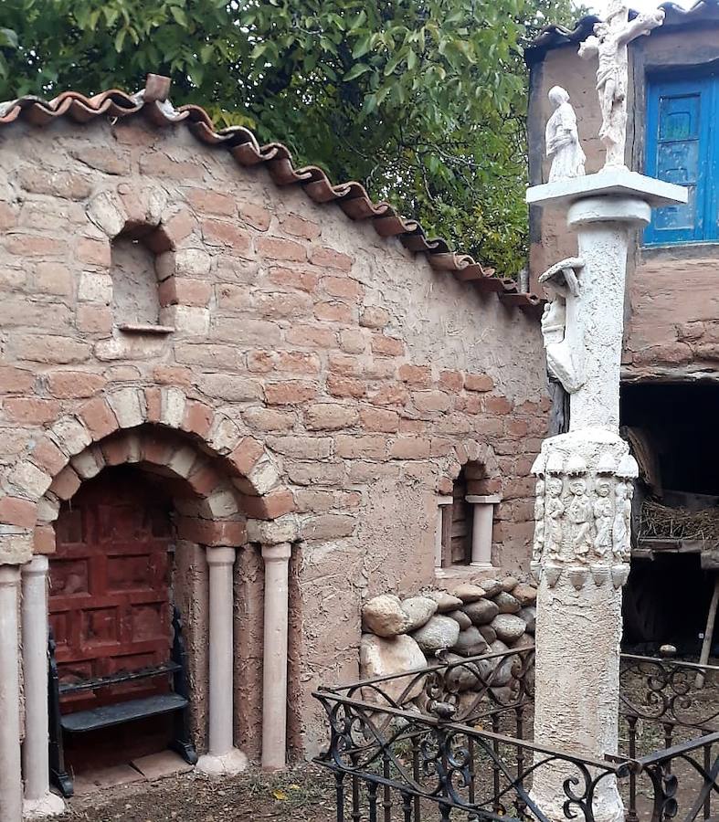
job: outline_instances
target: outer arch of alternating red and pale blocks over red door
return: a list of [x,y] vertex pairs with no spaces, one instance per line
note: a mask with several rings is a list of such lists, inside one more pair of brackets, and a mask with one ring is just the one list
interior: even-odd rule
[[[71,496],[72,487],[79,485],[79,472],[100,470],[97,466],[105,458],[102,441],[118,431],[137,433],[136,429],[143,426],[181,432],[187,448],[194,444],[208,458],[217,459],[227,473],[240,510],[248,518],[275,520],[294,511],[291,490],[281,484],[274,459],[231,417],[179,388],[118,388],[58,419],[6,472],[5,497],[0,500],[0,561],[28,561],[33,553],[40,501],[42,515],[48,515],[48,490],[52,487],[51,493],[60,499],[63,493]],[[187,469],[189,453],[182,448],[165,456],[175,469]],[[220,504],[219,497],[213,501],[208,497],[206,505],[216,502]]]

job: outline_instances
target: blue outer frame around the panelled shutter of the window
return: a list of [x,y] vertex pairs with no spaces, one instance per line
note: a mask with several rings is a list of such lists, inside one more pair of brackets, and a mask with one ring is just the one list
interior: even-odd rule
[[712,184],[719,173],[719,129],[710,128],[714,111],[719,114],[719,75],[716,68],[683,72],[679,76],[676,73],[647,76],[644,168],[646,174],[657,176],[662,98],[695,94],[700,97],[700,111],[694,225],[691,228],[658,229],[655,210],[650,225],[644,230],[642,245],[645,248],[719,241],[719,184]]

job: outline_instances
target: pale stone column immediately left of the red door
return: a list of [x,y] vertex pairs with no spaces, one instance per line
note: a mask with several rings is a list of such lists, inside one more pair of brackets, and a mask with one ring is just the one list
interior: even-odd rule
[[50,792],[48,761],[48,557],[23,565],[23,692],[25,816],[53,817],[65,803]]

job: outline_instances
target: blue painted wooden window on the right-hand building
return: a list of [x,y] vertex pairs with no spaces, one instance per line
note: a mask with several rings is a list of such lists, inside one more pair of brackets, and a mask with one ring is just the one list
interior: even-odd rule
[[689,202],[655,209],[644,242],[719,240],[719,78],[650,80],[647,91],[647,174],[685,186]]

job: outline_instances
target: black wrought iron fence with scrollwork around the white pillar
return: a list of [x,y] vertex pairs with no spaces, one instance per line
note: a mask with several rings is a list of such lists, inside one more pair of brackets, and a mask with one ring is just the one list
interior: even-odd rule
[[[628,750],[604,761],[532,742],[532,648],[322,688],[314,696],[330,744],[316,761],[333,771],[337,822],[548,822],[557,813],[599,822],[602,796],[617,789],[628,822],[706,819],[719,792],[719,732],[711,727],[719,711],[708,700],[706,711],[697,708],[689,688],[697,669],[624,658]],[[647,726],[661,729],[658,753],[641,750],[656,735]],[[675,743],[685,733],[692,738]],[[557,771],[561,796],[552,809],[539,806],[534,781]]]

